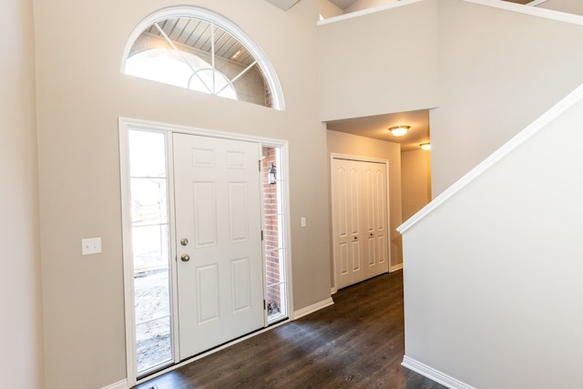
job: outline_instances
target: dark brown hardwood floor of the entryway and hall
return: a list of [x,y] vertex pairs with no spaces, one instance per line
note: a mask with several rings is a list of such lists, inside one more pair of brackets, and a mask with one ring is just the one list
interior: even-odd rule
[[345,288],[333,300],[330,307],[160,375],[138,389],[445,387],[401,366],[402,271]]

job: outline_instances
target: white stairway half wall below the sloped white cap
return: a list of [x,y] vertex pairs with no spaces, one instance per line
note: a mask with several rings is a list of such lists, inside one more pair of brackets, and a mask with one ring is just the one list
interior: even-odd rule
[[477,388],[583,387],[581,122],[579,101],[404,231],[408,358]]

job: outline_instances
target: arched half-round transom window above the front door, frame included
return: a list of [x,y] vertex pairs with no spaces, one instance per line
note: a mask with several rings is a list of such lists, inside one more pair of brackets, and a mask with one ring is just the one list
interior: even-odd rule
[[134,30],[123,73],[283,110],[275,71],[249,36],[199,7],[172,7]]

